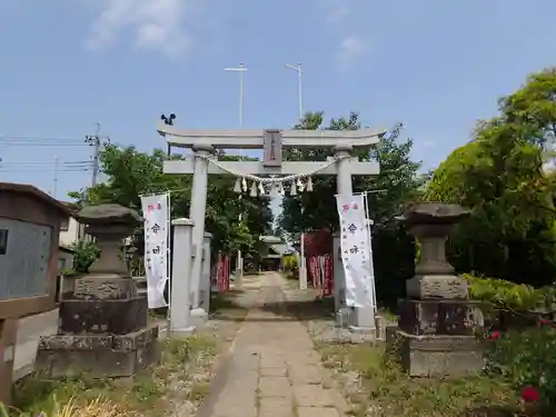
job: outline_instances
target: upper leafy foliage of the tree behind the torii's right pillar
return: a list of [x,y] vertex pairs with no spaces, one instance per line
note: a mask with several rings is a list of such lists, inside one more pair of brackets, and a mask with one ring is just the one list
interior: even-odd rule
[[[327,127],[322,127],[322,112],[307,113],[296,129],[357,130],[360,128],[358,119],[358,115],[351,112],[347,118],[332,118]],[[413,141],[398,141],[401,129],[403,126],[398,125],[377,146],[358,147],[353,152],[360,161],[377,161],[380,166],[380,173],[377,176],[353,177],[354,192],[378,191],[368,193],[370,216],[378,228],[398,215],[408,200],[418,198],[418,190],[424,181],[417,175],[419,163],[410,159]],[[325,161],[332,156],[334,149],[304,148],[285,152],[287,160],[295,161]],[[312,192],[286,196],[279,217],[280,228],[294,235],[324,227],[337,230],[336,192],[336,177],[319,176],[314,179]]]

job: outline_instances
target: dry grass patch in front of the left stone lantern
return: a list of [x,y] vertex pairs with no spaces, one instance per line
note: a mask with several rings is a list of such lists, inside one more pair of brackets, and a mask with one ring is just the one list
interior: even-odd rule
[[[30,416],[40,413],[48,417],[85,416],[80,410],[92,407],[98,413],[91,416],[98,417],[158,417],[177,404],[192,403],[196,406],[208,393],[208,371],[216,354],[214,339],[196,335],[169,338],[160,345],[160,364],[130,378],[90,379],[82,376],[49,381],[31,375],[16,384],[13,407]],[[59,414],[69,404],[73,405],[73,410]],[[99,407],[111,407],[112,414],[102,414]]]

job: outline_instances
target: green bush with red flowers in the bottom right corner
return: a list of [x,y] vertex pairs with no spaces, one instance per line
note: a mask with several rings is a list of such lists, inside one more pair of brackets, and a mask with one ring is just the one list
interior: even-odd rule
[[485,355],[486,371],[504,377],[515,389],[533,387],[542,403],[556,406],[556,331],[540,329],[496,334]]

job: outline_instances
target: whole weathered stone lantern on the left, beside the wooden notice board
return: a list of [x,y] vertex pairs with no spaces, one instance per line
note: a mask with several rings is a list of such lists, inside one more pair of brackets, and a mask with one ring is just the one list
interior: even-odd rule
[[86,207],[76,217],[100,256],[60,302],[58,335],[41,338],[36,368],[50,378],[130,376],[159,357],[158,327],[147,326],[147,298],[137,294],[120,254],[143,220],[119,205]]

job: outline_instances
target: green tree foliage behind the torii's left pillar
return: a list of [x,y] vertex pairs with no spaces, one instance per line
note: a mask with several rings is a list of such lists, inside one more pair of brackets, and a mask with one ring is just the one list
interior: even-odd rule
[[[221,160],[238,160],[239,157],[219,152]],[[171,156],[182,159],[182,156]],[[188,217],[191,200],[190,175],[167,175],[162,172],[167,155],[160,149],[151,153],[140,152],[135,147],[107,145],[100,152],[101,172],[106,181],[79,192],[71,192],[78,203],[115,202],[141,210],[141,195],[171,191],[170,212],[172,218]],[[271,230],[272,214],[266,197],[241,199],[234,192],[232,177],[210,176],[208,182],[206,231],[212,234],[212,249],[232,252],[241,249],[256,251],[259,235]],[[195,197],[195,196],[193,196]],[[239,214],[242,220],[239,221]],[[133,236],[139,252],[143,250],[142,228]]]

